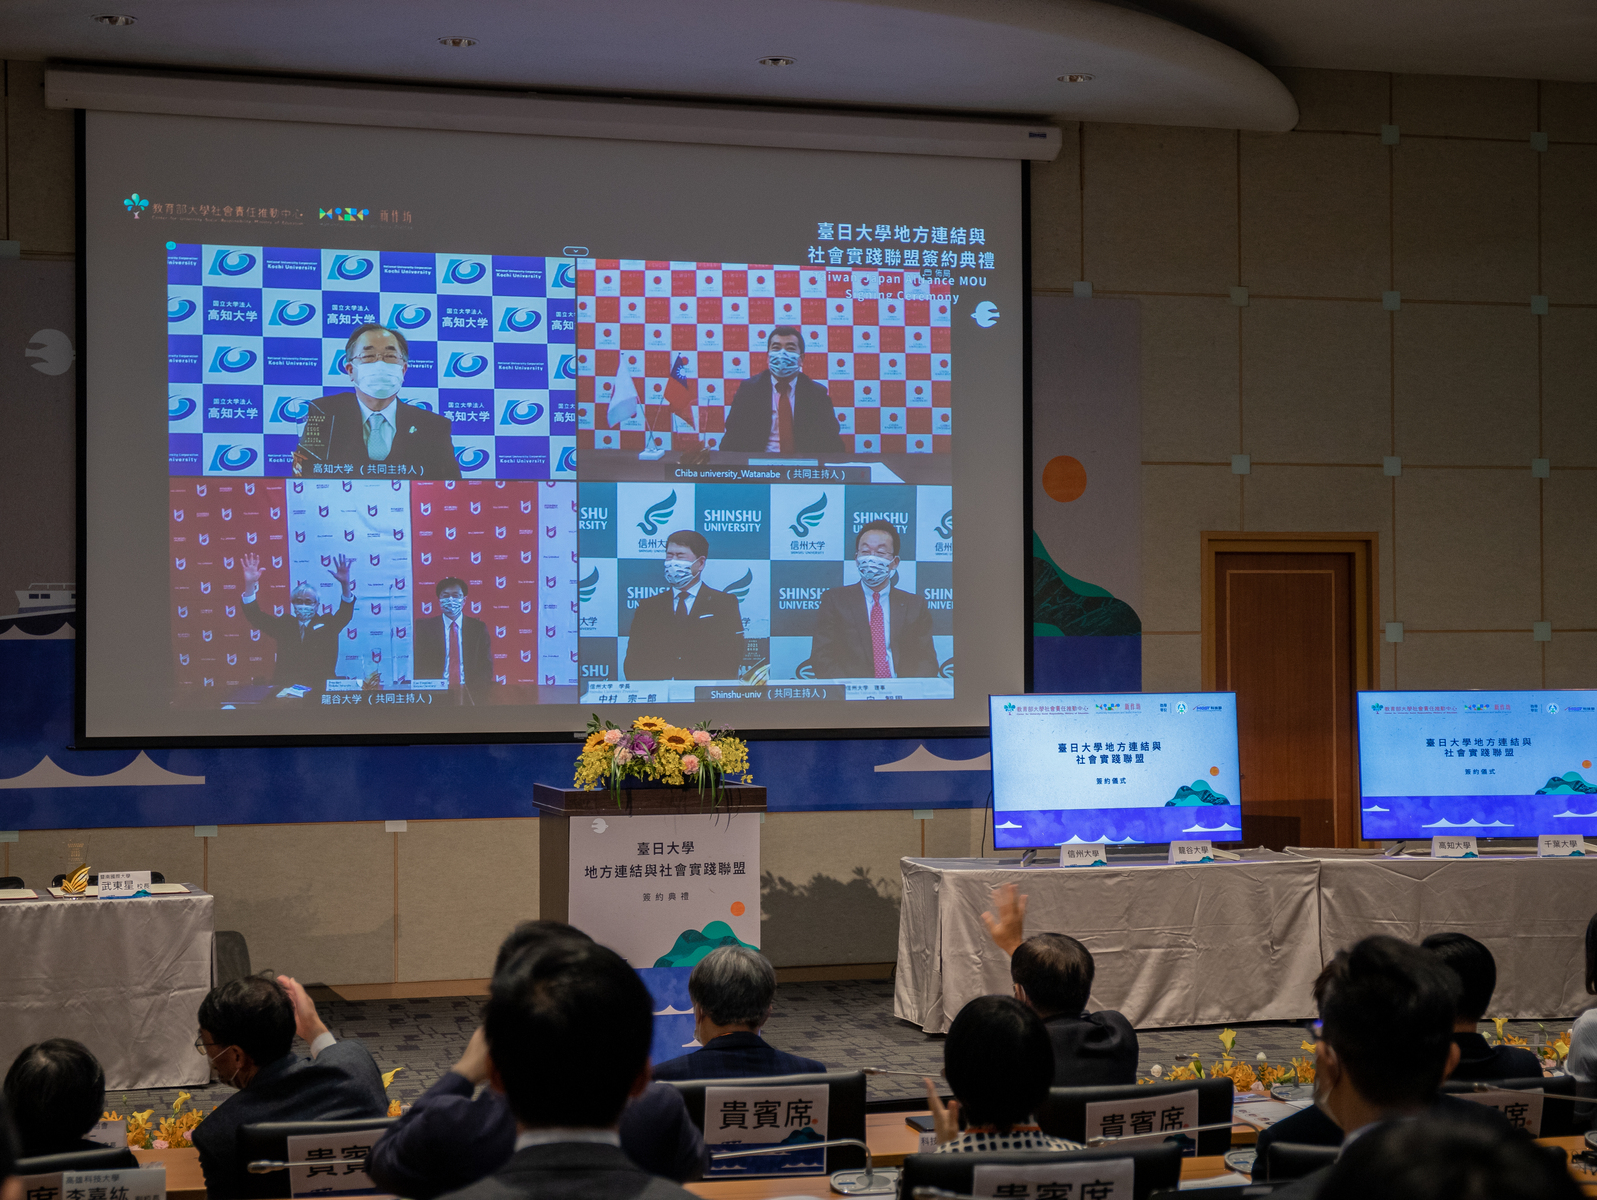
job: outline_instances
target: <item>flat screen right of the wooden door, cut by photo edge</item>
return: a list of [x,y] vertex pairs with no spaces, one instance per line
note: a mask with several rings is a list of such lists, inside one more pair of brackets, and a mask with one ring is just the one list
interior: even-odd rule
[[1367,839],[1597,834],[1597,692],[1359,692]]

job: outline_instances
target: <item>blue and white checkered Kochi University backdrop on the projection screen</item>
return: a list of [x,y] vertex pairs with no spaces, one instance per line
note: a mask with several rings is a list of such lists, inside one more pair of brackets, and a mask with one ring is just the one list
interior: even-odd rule
[[399,398],[449,417],[465,479],[575,478],[570,259],[172,244],[171,475],[286,476],[310,401],[350,391],[343,347],[404,334]]

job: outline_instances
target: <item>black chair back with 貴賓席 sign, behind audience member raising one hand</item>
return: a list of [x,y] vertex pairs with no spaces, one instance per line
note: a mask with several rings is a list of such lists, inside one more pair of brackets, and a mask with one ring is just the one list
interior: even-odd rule
[[[1196,1093],[1193,1096],[1183,1093]],[[1118,1083],[1094,1088],[1049,1088],[1036,1111],[1043,1133],[1084,1142],[1088,1138],[1159,1133],[1179,1125],[1230,1125],[1236,1088],[1228,1079],[1188,1079],[1166,1083]],[[1183,1103],[1177,1103],[1180,1098]],[[1182,1119],[1185,1117],[1185,1119]],[[1231,1130],[1195,1134],[1198,1154],[1225,1154]],[[1131,1146],[1151,1146],[1139,1139]]]

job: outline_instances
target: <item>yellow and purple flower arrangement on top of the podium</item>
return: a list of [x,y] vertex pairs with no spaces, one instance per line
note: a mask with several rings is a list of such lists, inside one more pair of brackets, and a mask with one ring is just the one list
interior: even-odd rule
[[620,729],[597,713],[588,722],[588,740],[577,756],[578,788],[608,788],[621,807],[621,781],[648,780],[672,788],[698,785],[699,796],[719,804],[728,777],[754,783],[749,745],[709,722],[682,729],[661,717],[640,716]]

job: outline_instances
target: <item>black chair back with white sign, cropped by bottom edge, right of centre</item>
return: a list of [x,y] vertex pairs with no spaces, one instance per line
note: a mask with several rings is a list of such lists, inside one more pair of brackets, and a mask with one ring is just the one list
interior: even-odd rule
[[[1172,1189],[1182,1178],[1182,1147],[1132,1142],[1091,1150],[912,1154],[904,1158],[899,1174],[899,1200],[913,1200],[917,1187],[941,1187],[960,1195],[1019,1195],[1017,1186],[1022,1186],[1024,1194],[1033,1197],[1094,1195],[1092,1182],[1102,1187],[1126,1174],[1131,1176],[1132,1200],[1147,1200],[1156,1189]],[[1118,1187],[1110,1194],[1124,1195]]]

